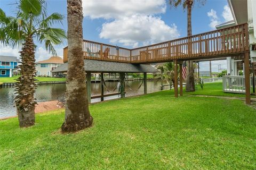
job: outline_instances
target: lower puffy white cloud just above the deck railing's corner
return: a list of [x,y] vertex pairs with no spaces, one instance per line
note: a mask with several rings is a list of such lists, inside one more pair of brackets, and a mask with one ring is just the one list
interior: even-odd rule
[[145,15],[132,15],[104,23],[100,32],[100,38],[132,47],[137,47],[139,43],[143,45],[160,43],[179,36],[175,24],[170,27],[161,18]]

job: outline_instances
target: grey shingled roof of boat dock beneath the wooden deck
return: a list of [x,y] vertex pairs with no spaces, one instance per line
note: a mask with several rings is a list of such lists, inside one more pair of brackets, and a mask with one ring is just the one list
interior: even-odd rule
[[[148,64],[118,63],[97,60],[84,60],[85,71],[90,72],[125,72],[125,73],[153,73],[158,72]],[[52,72],[67,72],[68,62],[60,65]]]

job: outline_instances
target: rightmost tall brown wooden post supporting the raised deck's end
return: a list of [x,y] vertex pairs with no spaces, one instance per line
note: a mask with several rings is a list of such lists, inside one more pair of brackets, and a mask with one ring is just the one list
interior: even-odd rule
[[249,53],[244,53],[244,72],[245,72],[245,103],[251,104],[251,92],[250,92],[250,63]]

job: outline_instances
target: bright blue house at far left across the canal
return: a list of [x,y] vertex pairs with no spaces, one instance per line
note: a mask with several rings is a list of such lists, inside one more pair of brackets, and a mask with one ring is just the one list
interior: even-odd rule
[[17,57],[0,55],[0,77],[12,77],[13,70],[18,69],[18,62]]

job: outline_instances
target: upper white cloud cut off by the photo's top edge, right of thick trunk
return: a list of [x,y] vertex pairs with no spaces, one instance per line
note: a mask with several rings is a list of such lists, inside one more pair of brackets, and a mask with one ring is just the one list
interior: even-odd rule
[[134,14],[165,13],[165,0],[83,0],[84,16],[117,19]]

